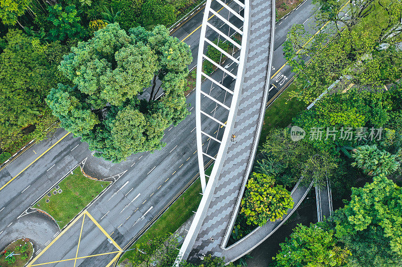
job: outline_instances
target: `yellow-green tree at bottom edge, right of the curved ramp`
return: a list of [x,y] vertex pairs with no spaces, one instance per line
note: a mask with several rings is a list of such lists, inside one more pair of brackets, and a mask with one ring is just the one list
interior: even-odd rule
[[[321,225],[322,226],[322,225]],[[276,254],[277,266],[343,266],[350,251],[336,245],[333,230],[326,230],[320,224],[310,227],[298,224],[290,238],[280,243]]]

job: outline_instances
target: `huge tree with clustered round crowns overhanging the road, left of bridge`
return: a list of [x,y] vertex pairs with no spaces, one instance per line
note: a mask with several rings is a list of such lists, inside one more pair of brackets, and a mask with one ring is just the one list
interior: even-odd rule
[[[61,126],[81,136],[96,156],[119,162],[160,149],[167,126],[187,116],[183,89],[191,61],[188,46],[164,26],[152,32],[138,27],[128,35],[109,24],[71,48],[59,69],[74,86],[59,84],[47,103]],[[149,100],[140,100],[148,87]],[[160,90],[165,95],[156,100]]]

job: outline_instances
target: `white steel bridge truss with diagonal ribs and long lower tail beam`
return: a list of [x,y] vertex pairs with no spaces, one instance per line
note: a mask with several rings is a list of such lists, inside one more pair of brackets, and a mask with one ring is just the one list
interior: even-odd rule
[[[249,0],[243,0],[244,4],[240,0],[232,0],[230,2],[231,7],[228,6],[228,4],[224,3],[223,0],[215,0],[217,3],[219,3],[222,6],[223,10],[226,10],[226,14],[228,14],[227,18],[224,18],[221,14],[219,14],[219,11],[214,11],[211,8],[211,2],[213,0],[207,0],[206,7],[205,7],[205,13],[204,13],[204,19],[203,19],[203,24],[201,28],[201,33],[200,33],[200,39],[199,39],[199,47],[198,47],[198,57],[197,57],[197,73],[196,73],[196,98],[195,98],[195,120],[196,120],[196,141],[197,141],[197,156],[198,156],[198,166],[199,166],[199,176],[201,180],[201,185],[202,185],[202,190],[203,190],[203,198],[198,206],[197,212],[195,213],[195,217],[193,219],[193,223],[191,224],[187,236],[183,241],[183,244],[180,248],[179,255],[176,258],[176,262],[181,261],[182,257],[186,258],[188,255],[188,250],[191,249],[191,242],[193,241],[193,238],[196,236],[196,231],[197,227],[199,227],[199,223],[202,222],[203,216],[205,216],[206,209],[208,207],[208,203],[211,200],[211,197],[214,193],[214,181],[216,178],[220,175],[220,170],[223,165],[223,161],[225,159],[225,153],[227,151],[228,143],[230,142],[231,136],[232,136],[232,130],[235,122],[235,117],[237,113],[237,108],[238,108],[238,102],[239,102],[239,95],[241,94],[241,87],[243,83],[243,75],[244,75],[244,69],[245,69],[245,63],[246,63],[246,55],[247,55],[247,49],[248,49],[248,35],[249,35]],[[229,2],[229,1],[228,1]],[[221,9],[221,10],[222,10]],[[236,11],[238,10],[238,12]],[[219,22],[219,24],[225,24],[226,27],[229,27],[229,33],[225,34],[222,32],[220,26],[214,26],[212,25],[214,22],[209,21],[209,18],[213,16],[216,17],[216,21]],[[233,23],[230,22],[230,18],[233,20],[236,20],[237,22],[242,23],[243,25],[241,27],[236,27]],[[232,21],[233,21],[232,20]],[[219,29],[218,29],[219,28]],[[227,29],[227,28],[226,28]],[[212,32],[214,35],[218,35],[219,38],[221,38],[224,42],[227,42],[229,45],[233,46],[233,51],[236,50],[236,54],[239,55],[238,57],[235,57],[232,54],[227,53],[223,49],[221,49],[217,44],[209,40],[206,36],[207,31],[209,33]],[[241,44],[237,43],[234,39],[232,39],[231,33],[233,34],[239,34],[241,36]],[[211,35],[209,35],[211,36]],[[218,39],[219,40],[219,39]],[[218,41],[219,42],[219,41]],[[222,56],[225,56],[229,61],[232,63],[227,66],[221,66],[221,62],[214,62],[210,57],[205,55],[205,48],[206,45],[211,45],[214,47],[216,50],[218,50]],[[232,78],[235,81],[234,87],[232,86],[231,89],[227,87],[227,85],[224,85],[224,79],[221,81],[217,81],[216,79],[212,78],[211,75],[207,75],[203,71],[203,61],[209,61],[211,62],[215,67],[217,71],[221,71],[223,73],[223,76],[225,78],[229,77]],[[232,71],[235,69],[234,72],[229,71],[227,67],[234,65],[232,68]],[[212,85],[216,85],[215,90],[223,89],[225,91],[225,94],[229,93],[230,98],[228,101],[220,101],[213,97],[209,93],[206,93],[205,91],[202,91],[202,81],[203,79],[206,79],[206,81],[211,82]],[[212,87],[211,85],[211,87]],[[213,88],[213,87],[212,87]],[[225,95],[226,96],[226,95]],[[225,97],[225,100],[226,97]],[[228,115],[225,117],[226,122],[223,122],[222,116],[218,119],[215,118],[214,114],[210,115],[206,113],[205,111],[202,110],[202,103],[205,103],[205,101],[210,101],[214,102],[217,107],[222,107],[224,109],[221,109],[221,114],[222,110],[226,110],[226,113]],[[229,103],[227,103],[229,102]],[[214,105],[215,105],[214,104]],[[206,118],[207,117],[207,118]],[[203,129],[203,121],[205,120],[212,120],[216,123],[219,124],[219,129],[222,128],[223,135],[218,137],[217,135],[214,135],[211,133],[211,129]],[[207,124],[208,125],[208,124]],[[213,140],[219,144],[219,149],[218,152],[208,152],[203,150],[203,136],[204,138],[208,137],[208,140]],[[213,154],[212,154],[213,153]],[[205,174],[205,168],[206,168],[206,161],[205,159],[208,160],[213,160],[214,161],[214,166],[212,168],[211,174],[206,175]],[[208,184],[206,181],[206,177],[208,177]]]

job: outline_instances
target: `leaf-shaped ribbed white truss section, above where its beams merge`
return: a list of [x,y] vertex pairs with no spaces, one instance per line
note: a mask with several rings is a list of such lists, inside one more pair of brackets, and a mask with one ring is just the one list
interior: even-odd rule
[[[201,185],[203,189],[203,193],[205,193],[205,190],[207,188],[207,182],[205,179],[205,162],[204,162],[204,156],[207,156],[211,159],[214,159],[214,167],[211,172],[211,177],[210,179],[215,179],[218,173],[218,169],[220,169],[221,163],[222,163],[222,158],[223,158],[223,151],[226,147],[226,144],[228,140],[230,140],[231,137],[231,131],[233,128],[233,122],[234,122],[234,117],[235,117],[235,110],[237,108],[237,101],[238,101],[238,96],[239,96],[239,90],[240,86],[242,83],[242,78],[243,78],[243,69],[244,69],[244,64],[245,64],[245,59],[246,59],[246,47],[247,47],[247,36],[248,36],[248,12],[249,12],[249,1],[246,0],[243,3],[240,1],[234,1],[235,6],[238,7],[229,7],[226,3],[222,2],[221,0],[215,0],[217,1],[223,8],[229,11],[229,13],[238,19],[240,19],[243,22],[243,26],[241,27],[243,30],[240,30],[238,27],[234,26],[232,23],[229,22],[229,19],[225,19],[223,16],[221,16],[218,12],[214,11],[211,8],[211,2],[212,0],[207,0],[207,4],[205,7],[205,13],[204,13],[204,19],[203,19],[203,25],[201,28],[201,34],[200,34],[200,39],[199,39],[199,47],[198,47],[198,58],[197,58],[197,74],[196,74],[196,87],[195,87],[195,94],[196,94],[196,99],[195,99],[195,119],[196,119],[196,138],[197,138],[197,155],[198,155],[198,165],[199,165],[199,176],[201,180]],[[244,17],[242,17],[238,12],[235,10],[244,10]],[[212,25],[212,22],[209,22],[209,18],[211,16],[216,16],[220,22],[223,22],[224,24],[228,25],[230,29],[234,30],[238,34],[242,36],[242,43],[238,44],[236,41],[234,41],[229,35],[224,34],[221,30],[219,30],[217,27]],[[246,26],[246,27],[245,27]],[[225,40],[225,42],[229,42],[232,44],[234,47],[238,48],[240,50],[240,57],[239,60],[233,57],[233,55],[230,55],[223,49],[221,49],[218,45],[214,44],[211,40],[209,40],[206,37],[207,31],[213,31],[218,34],[220,38]],[[214,60],[210,59],[207,55],[204,54],[205,51],[205,43],[208,43],[209,45],[213,46],[215,49],[217,49],[219,52],[221,52],[223,55],[225,55],[228,59],[232,60],[234,64],[237,65],[237,73],[234,74],[230,72],[229,70],[225,69],[223,66],[221,66],[219,63],[215,62]],[[221,82],[216,81],[209,75],[203,72],[202,66],[203,66],[203,61],[207,60],[211,62],[217,69],[221,70],[223,73],[227,74],[228,76],[232,77],[236,82],[234,86],[234,90],[230,90],[226,86],[223,85],[224,79],[222,79]],[[202,78],[205,77],[207,80],[210,82],[218,85],[220,88],[224,89],[225,91],[229,92],[232,96],[232,101],[230,106],[218,101],[217,99],[213,98],[209,94],[205,93],[201,89],[201,82]],[[229,115],[227,117],[227,122],[223,123],[222,121],[214,118],[210,114],[204,112],[201,110],[201,101],[202,101],[202,96],[208,97],[210,100],[216,102],[220,106],[224,107],[225,109],[229,110]],[[217,140],[216,138],[213,138],[211,135],[206,134],[208,132],[207,130],[202,129],[202,116],[207,116],[209,119],[219,123],[222,126],[225,126],[225,132],[223,134],[222,140]],[[202,135],[207,135],[211,139],[218,141],[220,143],[220,147],[218,150],[217,157],[213,157],[212,155],[209,155],[208,152],[204,153],[203,152],[203,141],[202,141]]]

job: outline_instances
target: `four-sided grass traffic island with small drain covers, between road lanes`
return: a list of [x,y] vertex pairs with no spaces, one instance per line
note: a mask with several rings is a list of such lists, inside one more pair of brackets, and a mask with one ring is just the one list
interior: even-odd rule
[[[87,178],[78,166],[58,184],[60,188],[53,188],[50,197],[46,194],[33,207],[49,213],[62,229],[110,183]],[[61,193],[53,194],[60,189]]]

